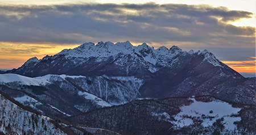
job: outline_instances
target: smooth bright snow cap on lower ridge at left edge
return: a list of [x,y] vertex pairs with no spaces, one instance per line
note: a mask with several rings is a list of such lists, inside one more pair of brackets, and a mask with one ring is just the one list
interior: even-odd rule
[[0,83],[19,82],[21,85],[45,85],[49,83],[40,78],[30,78],[18,74],[0,74]]

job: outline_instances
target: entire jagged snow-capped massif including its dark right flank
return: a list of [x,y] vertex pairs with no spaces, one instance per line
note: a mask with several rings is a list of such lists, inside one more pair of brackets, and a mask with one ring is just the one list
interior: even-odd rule
[[[186,52],[176,46],[154,49],[146,43],[134,47],[129,41],[116,44],[99,42],[96,45],[84,43],[74,49],[64,49],[54,56],[46,56],[42,60],[30,58],[20,68],[6,73],[27,77],[47,74],[106,79],[131,77],[141,80],[141,86],[136,92],[137,98],[214,95],[229,102],[255,104],[255,85],[245,85],[255,82],[248,82],[250,79],[217,60],[209,50]],[[92,84],[99,83],[94,81]],[[106,83],[100,81],[100,84],[96,89],[104,90]],[[119,87],[119,90],[122,91],[123,88]],[[98,92],[96,96],[105,100],[102,93]],[[245,96],[249,96],[250,100],[243,100]]]

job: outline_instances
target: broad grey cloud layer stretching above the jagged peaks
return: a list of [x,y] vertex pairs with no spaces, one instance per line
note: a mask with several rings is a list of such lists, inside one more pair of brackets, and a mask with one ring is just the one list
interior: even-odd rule
[[227,23],[252,15],[209,5],[0,5],[0,41],[60,44],[178,41],[209,48],[255,48],[255,27]]

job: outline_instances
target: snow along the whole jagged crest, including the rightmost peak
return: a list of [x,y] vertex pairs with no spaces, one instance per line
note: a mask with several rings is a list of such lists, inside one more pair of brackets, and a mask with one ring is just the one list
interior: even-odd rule
[[[139,57],[142,57],[144,61],[149,62],[152,65],[160,64],[160,65],[166,65],[172,58],[177,56],[177,54],[182,53],[185,54],[194,54],[193,50],[186,52],[181,50],[177,46],[172,46],[170,49],[162,46],[158,49],[154,49],[154,47],[148,47],[146,43],[143,43],[138,46],[133,46],[129,41],[123,42],[123,43],[111,43],[111,42],[98,42],[96,45],[94,43],[84,43],[80,45],[79,47],[73,48],[73,49],[64,49],[61,52],[57,53],[55,56],[58,55],[64,55],[65,58],[72,59],[72,58],[90,58],[90,57],[96,57],[96,61],[105,61],[106,58],[109,56],[119,56],[119,55],[126,55],[126,54],[132,54],[132,55],[139,55]],[[197,54],[203,54],[204,60],[207,60],[210,62],[210,64],[214,66],[220,66],[221,62],[218,61],[212,53],[210,53],[208,50],[204,50],[202,52],[198,51]],[[48,58],[48,57],[44,57]],[[44,59],[43,58],[43,59]],[[37,58],[31,58],[32,62],[40,61]],[[53,62],[53,61],[52,61]],[[77,64],[76,59],[73,60],[74,64]],[[29,63],[29,62],[28,62]],[[64,64],[65,65],[65,64]],[[158,69],[148,69],[152,73],[154,73]]]

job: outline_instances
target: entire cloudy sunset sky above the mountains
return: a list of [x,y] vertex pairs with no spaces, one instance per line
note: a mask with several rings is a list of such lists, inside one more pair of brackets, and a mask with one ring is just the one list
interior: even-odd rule
[[0,1],[0,69],[85,42],[208,49],[255,73],[255,1]]

